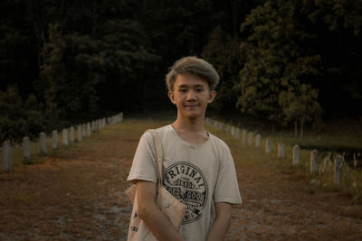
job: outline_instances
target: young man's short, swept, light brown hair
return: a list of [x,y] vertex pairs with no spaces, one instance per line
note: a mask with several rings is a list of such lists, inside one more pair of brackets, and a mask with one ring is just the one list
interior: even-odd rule
[[174,90],[176,78],[179,74],[193,74],[204,79],[209,85],[210,90],[214,90],[220,79],[214,67],[207,61],[195,56],[184,57],[176,60],[166,75],[168,91]]

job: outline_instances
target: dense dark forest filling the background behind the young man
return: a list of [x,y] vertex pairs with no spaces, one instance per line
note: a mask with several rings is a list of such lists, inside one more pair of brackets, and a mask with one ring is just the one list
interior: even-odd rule
[[360,116],[361,0],[3,0],[0,140],[169,109],[180,57],[221,76],[214,113],[322,128]]

